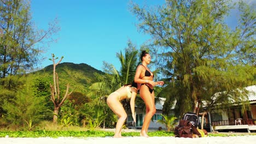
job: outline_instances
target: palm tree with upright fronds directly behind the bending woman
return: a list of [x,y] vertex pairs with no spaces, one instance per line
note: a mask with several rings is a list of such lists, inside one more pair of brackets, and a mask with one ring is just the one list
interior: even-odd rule
[[[125,49],[125,54],[123,52],[117,53],[117,57],[121,63],[120,71],[115,69],[113,64],[109,64],[104,62],[104,75],[96,74],[96,77],[99,82],[93,83],[89,88],[91,89],[90,95],[95,95],[96,98],[100,98],[102,100],[106,100],[107,95],[114,92],[121,86],[127,83],[131,83],[133,81],[133,77],[135,75],[137,61],[137,53],[135,46],[129,40],[127,43],[127,47]],[[128,106],[129,101],[124,101],[124,107]],[[106,104],[98,103],[103,107],[104,115],[113,115],[113,112],[109,109]],[[108,113],[107,113],[108,112]],[[114,118],[114,116],[112,116]],[[103,120],[103,125],[108,119]],[[110,122],[107,122],[110,123]],[[103,126],[104,127],[104,126]]]

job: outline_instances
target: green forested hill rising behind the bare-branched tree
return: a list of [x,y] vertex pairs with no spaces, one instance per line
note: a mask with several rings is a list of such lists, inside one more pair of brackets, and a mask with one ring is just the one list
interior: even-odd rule
[[[91,67],[88,64],[80,63],[60,63],[56,66],[56,73],[59,76],[59,82],[61,89],[66,89],[67,83],[70,85],[70,89],[77,92],[86,92],[86,89],[94,82],[97,82],[95,73],[104,74],[102,71]],[[49,82],[53,81],[53,64],[47,67],[34,71],[34,75],[38,75],[43,79],[47,79]]]

